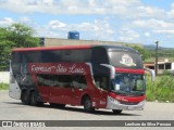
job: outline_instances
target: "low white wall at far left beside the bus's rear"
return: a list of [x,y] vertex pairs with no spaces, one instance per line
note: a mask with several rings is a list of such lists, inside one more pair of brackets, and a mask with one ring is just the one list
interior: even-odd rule
[[10,72],[0,72],[0,83],[10,82]]

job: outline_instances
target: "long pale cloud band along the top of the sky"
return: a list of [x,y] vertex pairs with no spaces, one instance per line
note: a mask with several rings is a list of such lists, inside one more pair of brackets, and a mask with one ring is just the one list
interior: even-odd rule
[[128,18],[165,14],[164,10],[145,5],[140,0],[1,0],[0,9],[22,14],[114,14]]

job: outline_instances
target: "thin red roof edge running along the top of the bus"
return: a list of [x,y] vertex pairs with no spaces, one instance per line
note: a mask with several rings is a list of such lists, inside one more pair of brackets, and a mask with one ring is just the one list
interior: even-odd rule
[[36,48],[16,48],[13,49],[13,52],[28,52],[28,51],[50,51],[50,50],[80,50],[80,49],[90,49],[90,48],[104,48],[108,51],[114,50],[124,50],[130,52],[137,52],[135,49],[121,46],[59,46],[59,47],[36,47]]

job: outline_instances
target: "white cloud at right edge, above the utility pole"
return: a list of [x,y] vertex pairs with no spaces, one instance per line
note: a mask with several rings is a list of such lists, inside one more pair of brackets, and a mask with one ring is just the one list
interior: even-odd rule
[[171,37],[174,35],[174,23],[167,20],[136,20],[127,24],[127,27],[137,29],[140,32],[140,38],[157,39],[158,37]]

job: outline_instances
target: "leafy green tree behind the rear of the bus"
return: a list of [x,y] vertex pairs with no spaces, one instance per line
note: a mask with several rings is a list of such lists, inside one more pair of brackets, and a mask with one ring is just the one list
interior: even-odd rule
[[34,30],[23,24],[0,27],[0,70],[9,69],[11,50],[13,48],[37,47],[39,38],[33,37]]

